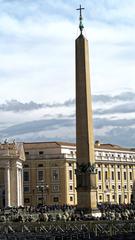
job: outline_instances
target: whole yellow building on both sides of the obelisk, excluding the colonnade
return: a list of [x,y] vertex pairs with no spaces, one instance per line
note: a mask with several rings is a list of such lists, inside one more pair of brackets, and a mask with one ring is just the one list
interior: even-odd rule
[[[24,203],[77,204],[76,146],[25,143]],[[134,197],[135,150],[95,143],[97,203],[130,203]]]

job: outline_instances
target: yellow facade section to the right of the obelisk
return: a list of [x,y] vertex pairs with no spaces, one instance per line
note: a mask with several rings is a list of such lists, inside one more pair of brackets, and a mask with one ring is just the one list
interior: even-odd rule
[[135,199],[135,149],[95,144],[98,202],[130,203]]

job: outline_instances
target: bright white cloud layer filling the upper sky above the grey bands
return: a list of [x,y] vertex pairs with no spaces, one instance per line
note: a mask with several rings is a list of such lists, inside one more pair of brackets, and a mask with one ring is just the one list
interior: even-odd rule
[[[133,86],[131,47],[135,34],[131,23],[135,21],[131,16],[135,4],[102,0],[83,4],[84,24],[91,41],[93,92],[115,92],[121,86]],[[54,0],[0,2],[1,99],[9,95],[18,101],[34,102],[44,102],[44,96],[49,102],[74,98],[78,5],[60,0],[57,5]],[[129,23],[126,26],[125,21]]]

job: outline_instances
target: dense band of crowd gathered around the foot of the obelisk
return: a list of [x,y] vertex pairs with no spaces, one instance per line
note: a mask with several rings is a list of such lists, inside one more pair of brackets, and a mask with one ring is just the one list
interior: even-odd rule
[[0,209],[0,222],[135,220],[134,204],[100,204],[98,211],[95,217],[69,205],[8,207]]

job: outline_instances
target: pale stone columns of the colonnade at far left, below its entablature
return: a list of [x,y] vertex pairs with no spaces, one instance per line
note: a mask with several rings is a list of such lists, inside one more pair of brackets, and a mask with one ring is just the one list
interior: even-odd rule
[[23,206],[23,168],[19,160],[0,161],[0,207]]

